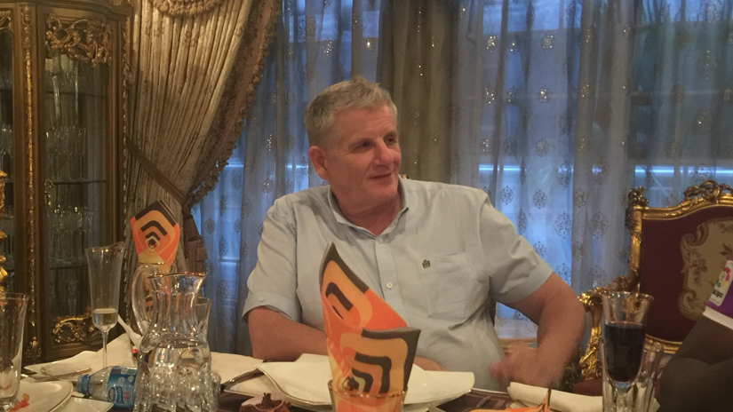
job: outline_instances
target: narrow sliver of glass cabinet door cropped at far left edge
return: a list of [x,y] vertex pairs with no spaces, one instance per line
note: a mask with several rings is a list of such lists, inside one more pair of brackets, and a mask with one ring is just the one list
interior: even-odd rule
[[[0,220],[0,231],[4,240],[0,244],[0,254],[5,258],[3,265],[6,274],[0,279],[0,288],[17,291],[15,276],[15,223],[12,196],[12,34],[10,31],[10,10],[0,9],[0,170],[7,175],[4,181],[4,216]],[[0,273],[0,277],[3,274]]]

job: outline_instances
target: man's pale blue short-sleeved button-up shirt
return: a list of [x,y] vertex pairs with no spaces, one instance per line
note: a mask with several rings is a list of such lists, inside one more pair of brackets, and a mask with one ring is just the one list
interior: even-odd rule
[[402,209],[378,236],[348,222],[328,186],[276,200],[243,313],[267,306],[323,330],[319,266],[333,242],[354,273],[422,330],[418,356],[499,389],[488,372],[503,356],[491,299],[527,297],[553,271],[482,190],[410,179],[400,186]]

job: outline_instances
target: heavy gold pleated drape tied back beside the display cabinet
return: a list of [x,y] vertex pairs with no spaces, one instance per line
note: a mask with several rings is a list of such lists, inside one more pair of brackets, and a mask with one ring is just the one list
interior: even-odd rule
[[[195,271],[206,253],[189,208],[231,155],[280,10],[277,0],[217,3],[171,15],[136,0],[131,33],[126,217],[168,203],[183,222],[176,265]],[[125,241],[131,251],[129,226]]]

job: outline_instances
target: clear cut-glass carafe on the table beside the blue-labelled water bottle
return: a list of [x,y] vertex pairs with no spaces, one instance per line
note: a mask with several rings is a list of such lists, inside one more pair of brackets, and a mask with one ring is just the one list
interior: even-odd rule
[[202,281],[203,273],[147,278],[154,309],[139,348],[136,411],[216,410],[211,352],[194,312]]

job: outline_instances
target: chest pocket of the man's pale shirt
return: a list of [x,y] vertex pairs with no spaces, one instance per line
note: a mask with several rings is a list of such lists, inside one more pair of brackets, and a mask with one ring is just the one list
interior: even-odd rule
[[464,253],[426,259],[418,264],[418,271],[431,317],[465,321],[486,300]]

